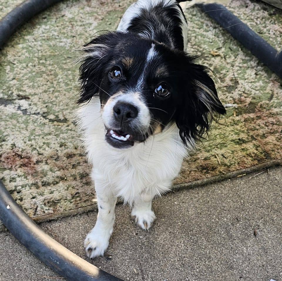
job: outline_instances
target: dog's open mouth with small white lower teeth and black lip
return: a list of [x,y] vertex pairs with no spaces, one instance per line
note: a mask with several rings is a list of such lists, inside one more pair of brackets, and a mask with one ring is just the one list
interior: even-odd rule
[[134,136],[121,130],[108,129],[107,142],[115,148],[128,148],[134,145]]

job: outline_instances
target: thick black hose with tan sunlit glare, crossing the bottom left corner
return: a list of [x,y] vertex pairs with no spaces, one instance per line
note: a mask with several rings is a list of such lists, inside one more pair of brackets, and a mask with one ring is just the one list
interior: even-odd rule
[[0,180],[0,220],[42,262],[73,281],[121,280],[75,255],[50,237],[12,198]]

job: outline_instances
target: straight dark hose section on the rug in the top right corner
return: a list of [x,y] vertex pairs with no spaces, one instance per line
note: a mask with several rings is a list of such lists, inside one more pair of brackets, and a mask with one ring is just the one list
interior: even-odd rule
[[[250,50],[261,62],[282,78],[282,51],[278,53],[268,42],[220,4],[197,4],[226,31]],[[278,36],[278,34],[277,34]]]

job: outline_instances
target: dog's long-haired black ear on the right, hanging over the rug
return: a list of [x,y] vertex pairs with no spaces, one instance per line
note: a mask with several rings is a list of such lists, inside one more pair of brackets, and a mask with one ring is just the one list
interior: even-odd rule
[[220,102],[209,68],[189,62],[186,67],[186,91],[176,111],[176,124],[182,141],[200,139],[207,134],[213,119],[226,110]]

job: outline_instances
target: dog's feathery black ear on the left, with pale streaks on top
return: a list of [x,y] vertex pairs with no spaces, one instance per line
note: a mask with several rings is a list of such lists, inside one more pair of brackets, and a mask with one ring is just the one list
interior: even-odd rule
[[103,33],[82,47],[83,54],[78,59],[82,61],[79,68],[80,97],[78,104],[90,101],[98,96],[99,86],[103,79],[103,66],[111,59],[112,52],[123,32],[110,31]]

